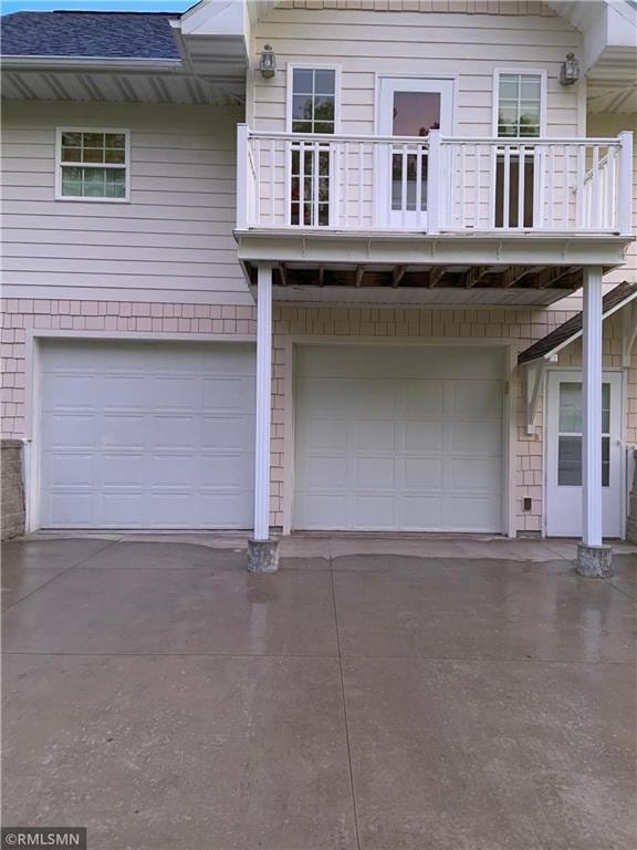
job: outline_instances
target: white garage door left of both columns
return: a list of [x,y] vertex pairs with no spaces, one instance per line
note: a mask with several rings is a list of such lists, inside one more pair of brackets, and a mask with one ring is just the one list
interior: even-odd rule
[[250,528],[254,350],[42,348],[43,528]]

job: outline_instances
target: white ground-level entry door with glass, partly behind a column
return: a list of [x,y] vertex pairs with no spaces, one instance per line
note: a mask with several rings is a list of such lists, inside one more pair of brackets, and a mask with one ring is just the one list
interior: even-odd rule
[[[582,380],[578,372],[549,372],[546,416],[546,533],[582,533]],[[622,536],[622,374],[602,384],[602,530]]]

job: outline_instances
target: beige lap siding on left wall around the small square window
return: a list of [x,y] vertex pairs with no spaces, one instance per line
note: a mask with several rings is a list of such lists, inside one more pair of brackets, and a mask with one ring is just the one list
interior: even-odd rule
[[[251,303],[232,236],[241,110],[11,103],[3,118],[4,284]],[[54,199],[56,126],[130,131],[129,204]]]

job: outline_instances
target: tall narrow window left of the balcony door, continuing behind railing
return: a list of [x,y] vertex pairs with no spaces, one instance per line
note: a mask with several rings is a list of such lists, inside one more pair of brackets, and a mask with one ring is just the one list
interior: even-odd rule
[[[289,68],[289,124],[292,133],[332,135],[337,126],[335,68]],[[330,143],[321,139],[292,144],[290,224],[330,224]]]

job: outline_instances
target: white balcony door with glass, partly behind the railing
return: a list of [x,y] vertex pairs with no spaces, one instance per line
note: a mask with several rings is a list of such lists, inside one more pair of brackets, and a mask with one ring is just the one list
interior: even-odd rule
[[452,116],[451,80],[380,80],[378,133],[410,139],[380,148],[382,226],[427,229],[427,186],[437,177],[429,173],[427,136],[430,129],[450,135]]

